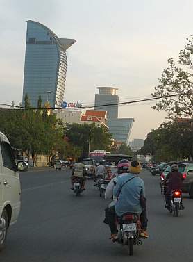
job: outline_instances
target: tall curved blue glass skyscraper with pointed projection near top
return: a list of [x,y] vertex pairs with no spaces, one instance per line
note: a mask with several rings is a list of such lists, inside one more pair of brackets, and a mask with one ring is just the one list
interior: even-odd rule
[[51,106],[61,106],[67,74],[66,50],[75,42],[58,38],[43,24],[27,21],[23,104],[27,94],[32,107],[37,106],[39,96],[42,105],[49,100]]

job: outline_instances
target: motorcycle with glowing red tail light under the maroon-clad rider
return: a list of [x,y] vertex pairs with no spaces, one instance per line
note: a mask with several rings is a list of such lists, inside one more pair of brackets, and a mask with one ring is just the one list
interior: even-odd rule
[[174,216],[178,217],[180,210],[183,210],[182,205],[182,192],[181,190],[173,190],[171,193],[171,206],[169,207],[169,212],[174,212]]

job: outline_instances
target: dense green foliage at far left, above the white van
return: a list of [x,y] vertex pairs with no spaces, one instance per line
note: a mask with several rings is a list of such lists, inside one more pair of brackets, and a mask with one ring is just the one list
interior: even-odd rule
[[[51,156],[57,145],[64,145],[63,129],[57,125],[56,115],[49,115],[44,119],[36,114],[35,110],[0,110],[0,129],[8,136],[13,147],[17,147],[31,154],[35,159],[36,154]],[[65,146],[65,145],[64,145]]]

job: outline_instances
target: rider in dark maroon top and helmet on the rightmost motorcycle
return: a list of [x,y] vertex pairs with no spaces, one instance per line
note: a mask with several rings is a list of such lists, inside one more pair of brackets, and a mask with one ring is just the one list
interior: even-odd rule
[[[181,190],[183,185],[183,175],[178,172],[179,167],[177,164],[171,165],[171,172],[167,174],[165,179],[165,184],[167,186],[167,191],[165,194],[165,208],[170,208],[171,206],[171,193],[172,190]],[[181,208],[184,209],[184,206],[181,202]]]

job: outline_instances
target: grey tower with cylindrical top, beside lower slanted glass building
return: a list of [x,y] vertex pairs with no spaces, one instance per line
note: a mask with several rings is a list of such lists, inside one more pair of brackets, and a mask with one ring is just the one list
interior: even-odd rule
[[[94,110],[107,111],[108,120],[117,119],[119,96],[116,95],[118,88],[99,87],[99,94],[95,94]],[[102,106],[106,104],[117,104],[114,106]]]

